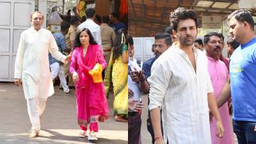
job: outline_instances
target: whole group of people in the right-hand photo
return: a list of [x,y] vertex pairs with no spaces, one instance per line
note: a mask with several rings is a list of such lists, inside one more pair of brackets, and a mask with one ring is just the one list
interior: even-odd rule
[[232,144],[234,133],[239,144],[256,143],[255,23],[248,10],[236,10],[228,24],[228,58],[222,33],[198,38],[194,10],[171,12],[170,26],[154,37],[155,56],[142,68],[128,36],[130,144],[141,143],[142,93],[153,144]]

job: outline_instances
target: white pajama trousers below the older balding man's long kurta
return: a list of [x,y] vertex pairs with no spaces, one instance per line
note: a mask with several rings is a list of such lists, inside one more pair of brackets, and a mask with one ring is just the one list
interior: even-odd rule
[[35,97],[33,99],[27,99],[28,115],[32,124],[31,129],[40,131],[40,116],[44,113],[47,98]]

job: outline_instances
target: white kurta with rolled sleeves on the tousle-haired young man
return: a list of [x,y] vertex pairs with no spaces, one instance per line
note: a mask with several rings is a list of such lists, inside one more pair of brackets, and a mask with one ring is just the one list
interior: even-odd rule
[[213,92],[207,57],[193,48],[196,72],[188,55],[172,45],[152,65],[149,109],[162,108],[164,141],[211,144],[207,93]]

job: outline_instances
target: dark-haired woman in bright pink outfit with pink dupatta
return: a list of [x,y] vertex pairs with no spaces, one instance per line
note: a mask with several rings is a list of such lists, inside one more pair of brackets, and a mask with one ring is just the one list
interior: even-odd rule
[[109,112],[103,83],[94,83],[88,73],[96,63],[102,69],[107,66],[100,46],[90,30],[85,28],[77,34],[69,70],[76,83],[77,122],[82,130],[79,136],[86,136],[87,125],[90,124],[89,141],[97,141],[98,122],[104,122]]

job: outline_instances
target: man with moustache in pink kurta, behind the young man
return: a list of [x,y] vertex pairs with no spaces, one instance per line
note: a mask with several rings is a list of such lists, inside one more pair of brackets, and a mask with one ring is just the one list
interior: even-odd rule
[[[220,92],[227,82],[228,79],[228,69],[218,57],[221,52],[221,35],[219,33],[210,32],[204,36],[204,45],[208,58],[208,70],[211,77],[212,86],[214,89],[215,97],[217,98],[220,95]],[[225,129],[223,138],[215,136],[216,134],[216,120],[212,118],[210,122],[211,125],[211,140],[212,144],[234,144],[234,136],[232,130],[231,119],[228,114],[228,103],[226,102],[219,108],[221,120]]]

